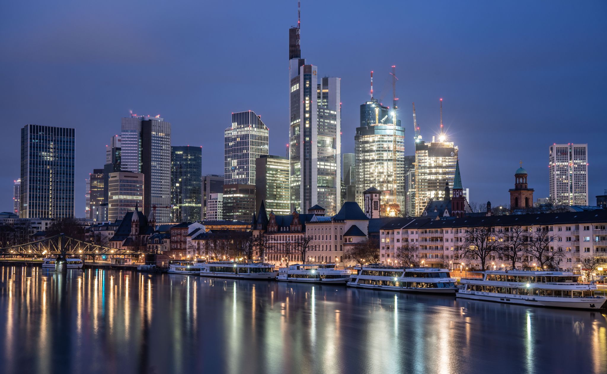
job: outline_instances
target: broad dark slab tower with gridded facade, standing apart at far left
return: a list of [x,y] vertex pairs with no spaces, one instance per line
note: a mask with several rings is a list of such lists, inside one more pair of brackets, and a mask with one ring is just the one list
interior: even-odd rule
[[21,218],[74,216],[74,149],[74,129],[21,129]]

